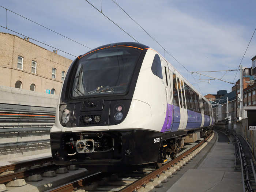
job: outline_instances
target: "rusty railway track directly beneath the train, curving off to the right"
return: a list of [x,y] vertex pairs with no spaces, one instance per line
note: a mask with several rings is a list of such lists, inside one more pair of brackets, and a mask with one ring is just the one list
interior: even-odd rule
[[167,178],[172,178],[173,174],[182,169],[192,158],[195,157],[213,138],[214,133],[196,144],[189,150],[179,155],[176,159],[169,159],[161,168],[154,166],[138,168],[124,173],[103,174],[100,172],[91,173],[79,180],[61,185],[48,192],[71,192],[77,189],[85,191],[115,191],[115,192],[146,192],[154,191],[155,187],[161,187]]

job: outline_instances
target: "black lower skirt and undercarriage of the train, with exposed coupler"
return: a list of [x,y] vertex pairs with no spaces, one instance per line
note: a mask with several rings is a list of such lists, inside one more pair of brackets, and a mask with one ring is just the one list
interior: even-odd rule
[[[211,129],[201,128],[197,133],[200,131],[202,138],[205,138]],[[177,153],[184,147],[185,137],[194,132],[182,131],[180,135],[175,132],[176,137],[170,134],[171,132],[163,134],[134,129],[50,133],[50,139],[54,163],[57,165],[77,164],[91,169],[103,169],[107,166],[125,167],[124,165],[155,163],[160,167],[166,161],[166,156],[176,158]]]

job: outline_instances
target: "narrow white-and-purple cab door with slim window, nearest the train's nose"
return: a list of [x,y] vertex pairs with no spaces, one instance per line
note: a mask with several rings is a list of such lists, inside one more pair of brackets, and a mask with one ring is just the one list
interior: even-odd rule
[[165,60],[162,59],[162,67],[163,67],[163,76],[164,76],[164,84],[165,84],[165,94],[166,94],[166,130],[170,131],[172,125],[172,112],[171,112],[171,95],[170,95],[170,77],[168,73],[168,65]]

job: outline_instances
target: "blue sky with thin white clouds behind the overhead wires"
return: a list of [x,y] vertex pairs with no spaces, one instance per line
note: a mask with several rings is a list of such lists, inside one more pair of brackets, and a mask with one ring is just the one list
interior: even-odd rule
[[[115,0],[159,44],[171,53],[188,71],[237,69],[255,30],[256,1],[246,0]],[[91,4],[122,27],[138,42],[157,50],[203,95],[218,90],[231,91],[232,84],[219,80],[199,80],[166,54],[150,36],[133,22],[112,0],[90,0]],[[134,41],[85,0],[34,1],[0,0],[0,5],[57,31],[91,49],[114,43]],[[101,6],[102,5],[102,6]],[[90,49],[53,33],[0,7],[0,25],[64,50],[75,56]],[[7,20],[7,22],[6,22]],[[0,32],[15,34],[0,27]],[[22,35],[16,34],[19,37]],[[48,50],[53,48],[30,40]],[[75,57],[58,51],[74,60]],[[243,67],[252,66],[256,55],[256,34],[242,60]],[[225,72],[204,73],[221,78]],[[224,80],[233,82],[236,71]],[[203,77],[202,79],[208,79]],[[239,79],[239,72],[235,78]]]

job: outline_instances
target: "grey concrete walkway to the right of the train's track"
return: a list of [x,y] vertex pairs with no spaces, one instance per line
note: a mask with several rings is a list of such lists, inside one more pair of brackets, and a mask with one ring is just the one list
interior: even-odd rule
[[[242,191],[241,172],[234,172],[234,145],[222,132],[217,131],[215,135],[218,136],[212,139],[216,142],[212,143],[209,153],[207,150],[201,152],[205,153],[205,158],[198,166],[183,170],[185,173],[167,192]],[[210,147],[210,143],[206,147]],[[201,153],[199,155],[202,155]]]

